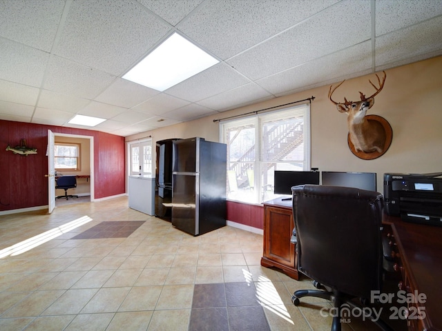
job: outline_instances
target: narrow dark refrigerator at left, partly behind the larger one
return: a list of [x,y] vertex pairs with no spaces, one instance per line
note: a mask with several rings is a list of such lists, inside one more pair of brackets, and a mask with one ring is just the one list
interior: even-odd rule
[[173,141],[157,141],[155,167],[155,216],[172,221],[172,158]]

